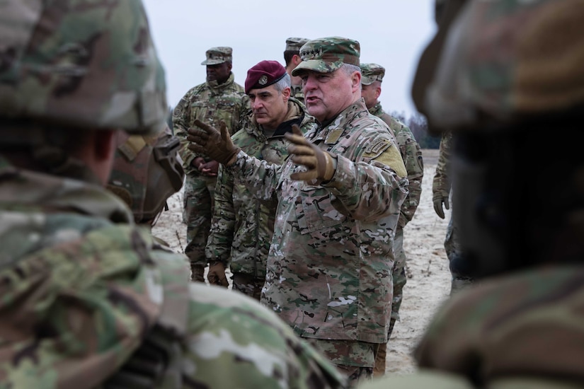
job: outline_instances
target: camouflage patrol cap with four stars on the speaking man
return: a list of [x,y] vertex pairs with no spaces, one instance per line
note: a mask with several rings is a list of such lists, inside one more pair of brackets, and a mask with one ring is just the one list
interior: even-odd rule
[[356,40],[345,37],[322,37],[309,40],[300,48],[302,62],[292,70],[292,76],[299,76],[307,70],[331,73],[343,64],[359,66],[359,56],[360,45]]

